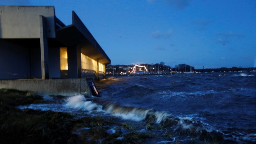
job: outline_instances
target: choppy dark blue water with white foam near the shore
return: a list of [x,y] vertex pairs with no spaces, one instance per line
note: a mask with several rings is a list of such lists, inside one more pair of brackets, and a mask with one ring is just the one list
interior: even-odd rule
[[[154,130],[146,143],[190,143],[214,137],[225,143],[256,142],[256,73],[225,72],[110,77],[96,82],[100,98],[51,97],[20,108],[115,116],[140,131]],[[167,131],[172,138],[163,135]],[[212,141],[210,141],[212,142]],[[200,143],[200,141],[196,141]],[[201,141],[204,143],[204,141]]]

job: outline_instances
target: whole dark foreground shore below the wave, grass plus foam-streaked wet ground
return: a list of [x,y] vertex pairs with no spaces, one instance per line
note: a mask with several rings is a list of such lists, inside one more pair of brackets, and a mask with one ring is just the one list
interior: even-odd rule
[[77,118],[72,113],[17,108],[32,103],[44,104],[47,101],[34,93],[0,89],[1,144],[141,144],[156,139],[175,144],[231,142],[225,141],[217,131],[184,130],[175,118],[156,124],[154,115],[149,115],[143,122],[145,125],[130,125],[111,116]]

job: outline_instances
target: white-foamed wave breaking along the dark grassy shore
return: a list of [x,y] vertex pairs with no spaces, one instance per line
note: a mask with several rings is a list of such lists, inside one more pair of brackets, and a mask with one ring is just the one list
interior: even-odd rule
[[[101,105],[86,101],[83,95],[76,95],[68,98],[65,103],[66,107],[75,108],[76,110],[98,110],[110,113],[113,116],[130,121],[145,121],[146,123],[156,123],[167,128],[172,128],[173,132],[185,134],[188,136],[196,136],[201,140],[204,139],[218,139],[231,140],[237,142],[253,142],[256,134],[241,134],[217,130],[214,126],[204,123],[201,120],[195,119],[191,116],[172,116],[166,111],[155,111],[154,109],[127,107],[118,105],[113,102],[104,102]],[[234,139],[236,138],[236,139]]]

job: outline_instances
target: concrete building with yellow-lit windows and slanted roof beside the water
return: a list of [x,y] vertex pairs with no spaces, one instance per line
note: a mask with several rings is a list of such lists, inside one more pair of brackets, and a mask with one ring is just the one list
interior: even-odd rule
[[[30,90],[33,81],[38,86],[100,79],[110,62],[74,11],[72,24],[65,26],[53,6],[0,6],[0,88]],[[17,88],[28,81],[30,87]]]

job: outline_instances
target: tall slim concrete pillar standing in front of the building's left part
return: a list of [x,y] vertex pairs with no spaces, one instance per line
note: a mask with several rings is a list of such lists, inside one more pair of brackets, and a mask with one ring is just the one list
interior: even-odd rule
[[39,16],[40,25],[40,48],[41,48],[41,70],[42,79],[49,79],[49,69],[48,69],[48,43],[47,43],[47,33],[46,33],[46,20],[44,16]]

